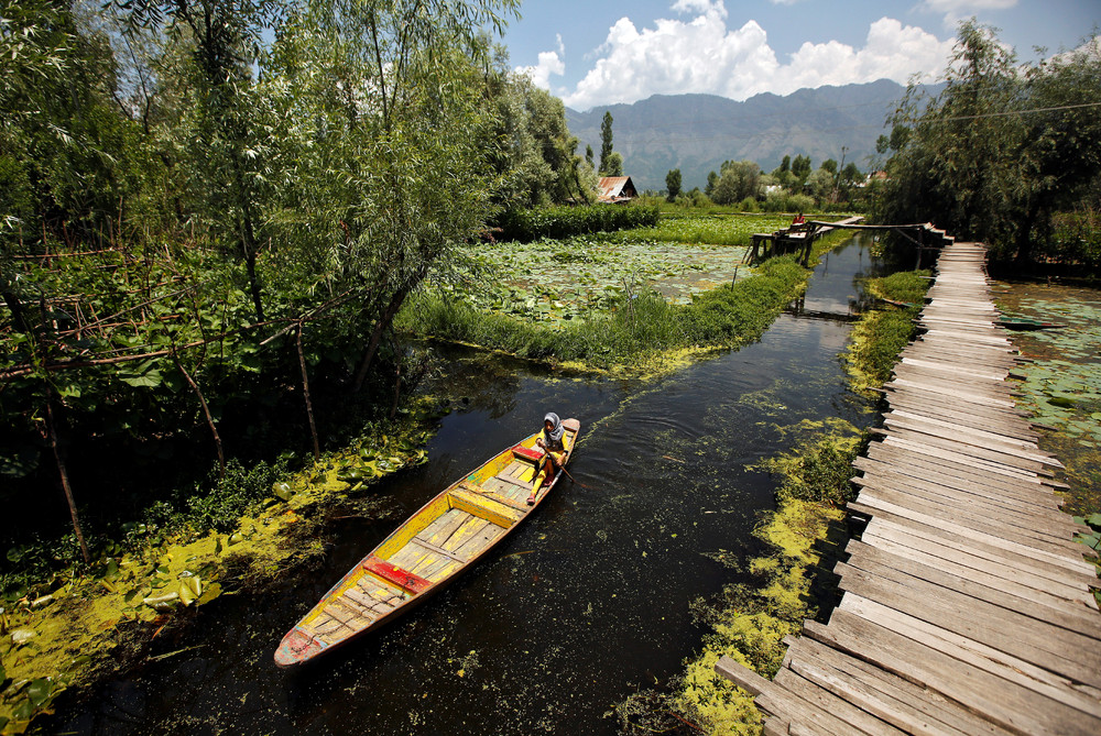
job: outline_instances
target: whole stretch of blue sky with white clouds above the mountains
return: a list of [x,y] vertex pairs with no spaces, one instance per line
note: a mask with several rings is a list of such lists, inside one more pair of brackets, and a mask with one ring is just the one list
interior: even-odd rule
[[521,13],[504,36],[512,65],[581,111],[656,94],[931,81],[972,15],[1022,61],[1101,28],[1101,0],[526,0]]

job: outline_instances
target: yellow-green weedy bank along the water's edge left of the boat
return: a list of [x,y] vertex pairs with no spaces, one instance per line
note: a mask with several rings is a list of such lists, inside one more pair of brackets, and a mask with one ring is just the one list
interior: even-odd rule
[[371,513],[370,485],[424,460],[437,416],[424,402],[293,474],[239,470],[186,514],[154,508],[90,570],[25,575],[0,609],[0,734],[25,732],[67,689],[140,663],[162,629],[220,595],[304,569],[321,552],[326,509]]

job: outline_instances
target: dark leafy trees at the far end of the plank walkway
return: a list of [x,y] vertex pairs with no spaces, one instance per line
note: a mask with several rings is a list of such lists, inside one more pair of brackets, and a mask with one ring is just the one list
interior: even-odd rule
[[[881,222],[933,221],[995,257],[1082,257],[1053,237],[1056,212],[1094,202],[1101,169],[1101,43],[1021,66],[990,29],[960,24],[944,91],[912,87],[889,147]],[[1069,243],[1068,243],[1069,244]]]

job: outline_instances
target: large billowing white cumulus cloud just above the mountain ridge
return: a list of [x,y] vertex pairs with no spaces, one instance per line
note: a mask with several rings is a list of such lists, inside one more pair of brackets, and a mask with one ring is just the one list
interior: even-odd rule
[[677,0],[673,10],[688,20],[659,19],[644,29],[625,17],[617,21],[589,73],[574,90],[563,90],[566,105],[585,110],[685,92],[743,100],[764,91],[788,95],[803,87],[882,78],[905,84],[919,72],[923,80],[931,80],[944,70],[952,46],[919,28],[882,18],[869,28],[861,48],[837,41],[805,43],[784,64],[756,21],[727,28],[721,0]]

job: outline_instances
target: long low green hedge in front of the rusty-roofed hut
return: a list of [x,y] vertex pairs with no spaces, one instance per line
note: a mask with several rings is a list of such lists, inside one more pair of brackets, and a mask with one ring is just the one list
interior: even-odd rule
[[591,207],[545,207],[511,209],[495,218],[500,240],[528,243],[541,238],[563,239],[593,232],[652,227],[656,207],[596,205]]

